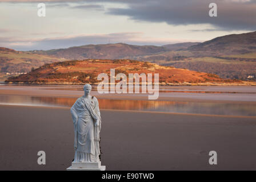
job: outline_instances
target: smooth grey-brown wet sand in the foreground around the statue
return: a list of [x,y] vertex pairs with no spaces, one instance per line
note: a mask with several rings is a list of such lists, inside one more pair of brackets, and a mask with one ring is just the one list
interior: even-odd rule
[[[66,107],[0,105],[0,170],[65,170],[73,159]],[[255,117],[102,110],[107,170],[256,170]],[[46,165],[37,152],[46,152]],[[209,165],[209,151],[218,164]]]

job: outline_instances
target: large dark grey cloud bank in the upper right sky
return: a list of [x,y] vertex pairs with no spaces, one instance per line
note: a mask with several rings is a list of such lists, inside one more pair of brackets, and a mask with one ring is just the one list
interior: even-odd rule
[[111,8],[107,14],[125,15],[146,22],[166,22],[173,25],[209,23],[222,30],[255,30],[256,1],[235,2],[217,0],[218,16],[209,16],[208,0],[159,0],[130,3],[129,7]]

